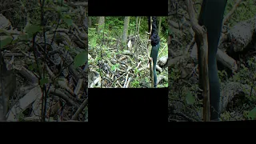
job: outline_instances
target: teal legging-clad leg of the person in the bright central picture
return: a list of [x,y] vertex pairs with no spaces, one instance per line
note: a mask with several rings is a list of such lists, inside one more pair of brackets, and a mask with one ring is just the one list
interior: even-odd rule
[[153,72],[154,72],[154,87],[157,87],[157,60],[158,60],[158,50],[160,47],[160,43],[158,43],[156,46],[152,46],[150,57],[153,58]]

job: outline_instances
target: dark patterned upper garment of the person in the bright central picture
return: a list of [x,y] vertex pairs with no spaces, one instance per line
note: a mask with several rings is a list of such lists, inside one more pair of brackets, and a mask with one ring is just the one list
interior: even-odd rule
[[[157,18],[152,17],[152,32],[151,32],[151,46],[156,46],[160,42],[160,38],[158,36],[158,24],[157,24]],[[149,24],[149,32],[150,32],[150,17],[148,17],[148,24]]]

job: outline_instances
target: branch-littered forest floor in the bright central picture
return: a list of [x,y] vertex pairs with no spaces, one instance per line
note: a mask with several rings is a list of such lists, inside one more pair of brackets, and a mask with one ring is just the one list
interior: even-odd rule
[[[146,34],[130,36],[133,38],[130,49],[127,43],[120,42],[120,37],[114,38],[108,32],[104,34],[103,38],[103,33],[96,34],[95,28],[89,28],[89,87],[150,88]],[[158,88],[168,87],[167,58],[167,40],[161,38],[157,62]]]

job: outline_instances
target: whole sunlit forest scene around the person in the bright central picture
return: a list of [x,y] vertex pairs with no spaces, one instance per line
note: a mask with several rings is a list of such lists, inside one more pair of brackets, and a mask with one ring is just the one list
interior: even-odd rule
[[[157,17],[157,22],[157,87],[161,88],[168,86],[167,17]],[[89,17],[88,26],[89,87],[151,87],[147,17]]]

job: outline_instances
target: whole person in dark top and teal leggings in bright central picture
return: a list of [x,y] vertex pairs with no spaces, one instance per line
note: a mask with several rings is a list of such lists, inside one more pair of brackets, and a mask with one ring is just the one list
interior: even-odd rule
[[[157,71],[156,71],[156,65],[158,60],[158,50],[160,47],[160,38],[158,36],[158,27],[157,27],[157,18],[152,17],[152,31],[150,36],[150,42],[151,42],[151,52],[150,57],[153,59],[153,71],[154,71],[154,88],[157,87]],[[150,17],[148,17],[148,23],[149,23],[149,33],[150,33]]]

